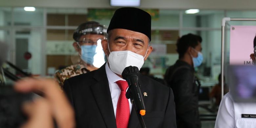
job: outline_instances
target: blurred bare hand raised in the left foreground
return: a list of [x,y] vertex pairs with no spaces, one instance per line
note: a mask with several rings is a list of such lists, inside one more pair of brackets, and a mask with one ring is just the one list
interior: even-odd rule
[[18,92],[40,92],[44,95],[23,105],[29,119],[22,127],[53,128],[53,118],[59,128],[75,127],[74,111],[55,80],[28,78],[16,82],[14,88]]

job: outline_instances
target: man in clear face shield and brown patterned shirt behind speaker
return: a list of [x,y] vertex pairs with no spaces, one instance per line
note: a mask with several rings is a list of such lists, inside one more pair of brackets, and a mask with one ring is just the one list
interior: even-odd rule
[[55,74],[61,88],[65,79],[94,71],[105,63],[101,40],[105,39],[106,35],[107,30],[104,26],[95,21],[88,21],[77,27],[73,34],[75,40],[73,47],[80,59],[74,65],[59,70]]

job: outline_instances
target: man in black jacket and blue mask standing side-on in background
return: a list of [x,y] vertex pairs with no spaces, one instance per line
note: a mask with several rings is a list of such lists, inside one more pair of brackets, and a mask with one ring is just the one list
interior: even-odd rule
[[178,128],[200,128],[198,96],[200,83],[194,68],[203,62],[202,38],[194,34],[183,35],[177,41],[179,60],[170,66],[164,79],[174,93]]

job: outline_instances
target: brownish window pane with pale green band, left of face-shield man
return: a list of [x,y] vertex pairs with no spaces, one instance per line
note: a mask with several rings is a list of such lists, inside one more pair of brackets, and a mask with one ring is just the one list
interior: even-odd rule
[[46,59],[47,74],[53,75],[56,70],[70,66],[77,59],[73,47],[75,30],[47,30]]

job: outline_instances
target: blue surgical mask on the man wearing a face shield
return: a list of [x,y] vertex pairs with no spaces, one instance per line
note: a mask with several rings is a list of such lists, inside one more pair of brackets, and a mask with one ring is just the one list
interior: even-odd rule
[[87,64],[93,65],[93,57],[95,55],[96,45],[82,45],[81,59]]

